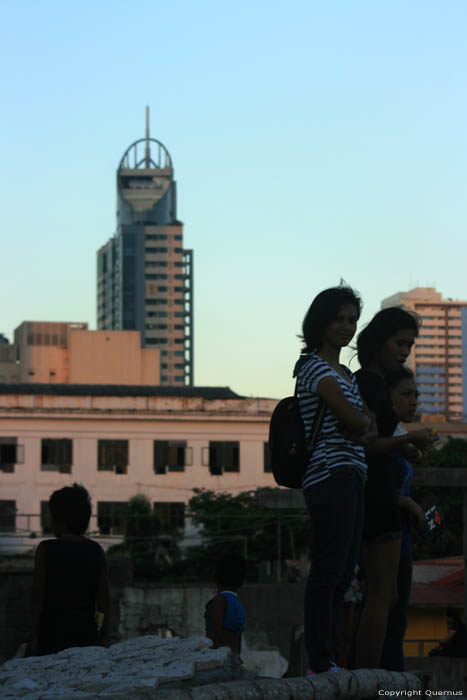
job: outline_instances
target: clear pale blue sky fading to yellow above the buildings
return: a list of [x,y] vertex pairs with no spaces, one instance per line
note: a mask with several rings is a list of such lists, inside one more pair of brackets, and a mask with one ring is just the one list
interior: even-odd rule
[[[293,390],[301,323],[344,279],[467,299],[464,0],[42,0],[0,22],[0,332],[96,328],[116,169],[171,154],[194,250],[195,384]],[[351,368],[356,369],[355,361]]]

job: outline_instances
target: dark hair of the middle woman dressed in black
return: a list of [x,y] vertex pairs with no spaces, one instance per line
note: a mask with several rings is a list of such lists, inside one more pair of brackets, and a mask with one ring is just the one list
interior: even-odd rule
[[357,355],[365,368],[371,363],[384,342],[399,331],[411,330],[418,336],[420,319],[417,314],[399,306],[389,306],[373,316],[357,338]]

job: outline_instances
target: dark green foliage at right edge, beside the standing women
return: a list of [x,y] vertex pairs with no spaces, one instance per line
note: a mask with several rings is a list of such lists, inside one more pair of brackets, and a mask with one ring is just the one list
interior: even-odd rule
[[[440,449],[432,449],[416,469],[438,467],[442,469],[467,467],[467,442],[459,438],[448,438]],[[416,486],[412,488],[412,498],[420,503],[432,501],[441,508],[445,526],[438,539],[426,535],[414,535],[413,558],[436,559],[459,556],[463,546],[463,490],[458,488],[436,488]]]

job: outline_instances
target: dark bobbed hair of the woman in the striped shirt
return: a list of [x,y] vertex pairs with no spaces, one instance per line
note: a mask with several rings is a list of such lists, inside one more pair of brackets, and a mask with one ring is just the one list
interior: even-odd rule
[[303,341],[302,352],[319,350],[324,331],[345,304],[353,304],[357,309],[357,318],[360,318],[362,300],[357,292],[342,282],[338,287],[325,289],[313,299],[303,319],[302,335],[299,336]]

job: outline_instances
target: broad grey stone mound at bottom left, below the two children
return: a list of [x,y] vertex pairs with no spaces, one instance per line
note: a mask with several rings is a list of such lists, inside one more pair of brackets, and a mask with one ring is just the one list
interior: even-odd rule
[[[14,658],[0,666],[2,697],[78,700],[148,698],[159,686],[213,683],[238,678],[226,647],[206,637],[135,637],[105,649],[79,647],[57,654]],[[219,675],[220,674],[220,675]]]

